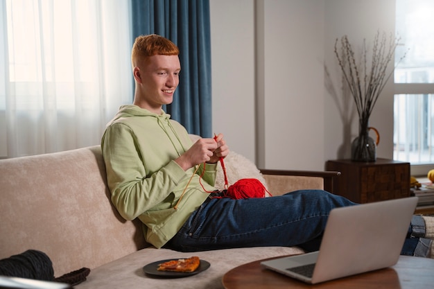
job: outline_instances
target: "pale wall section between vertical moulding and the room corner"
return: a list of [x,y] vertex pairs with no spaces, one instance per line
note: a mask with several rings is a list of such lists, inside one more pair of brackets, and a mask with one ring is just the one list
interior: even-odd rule
[[[261,1],[264,13],[263,168],[321,167],[324,4]],[[258,12],[259,9],[258,9]]]

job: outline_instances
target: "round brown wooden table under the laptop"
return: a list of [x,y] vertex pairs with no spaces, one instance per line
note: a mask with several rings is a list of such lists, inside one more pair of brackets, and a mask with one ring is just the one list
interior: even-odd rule
[[310,285],[268,270],[254,261],[238,266],[223,276],[226,289],[426,289],[434,288],[434,259],[400,256],[391,268],[376,270],[351,277]]

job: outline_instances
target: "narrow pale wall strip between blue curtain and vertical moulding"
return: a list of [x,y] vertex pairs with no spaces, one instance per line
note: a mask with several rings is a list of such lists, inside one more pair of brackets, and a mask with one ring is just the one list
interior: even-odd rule
[[254,160],[255,81],[252,0],[211,0],[213,130]]

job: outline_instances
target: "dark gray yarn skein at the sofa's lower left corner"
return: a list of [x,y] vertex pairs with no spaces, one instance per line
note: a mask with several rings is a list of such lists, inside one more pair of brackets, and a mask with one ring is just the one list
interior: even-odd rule
[[28,249],[21,254],[1,259],[0,275],[53,281],[53,263],[44,252]]

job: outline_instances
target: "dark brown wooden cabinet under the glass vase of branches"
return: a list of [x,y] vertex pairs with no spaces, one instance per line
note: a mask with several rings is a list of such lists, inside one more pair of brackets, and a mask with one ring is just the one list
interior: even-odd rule
[[377,158],[372,162],[337,159],[326,170],[340,171],[333,193],[359,204],[410,196],[410,163]]

